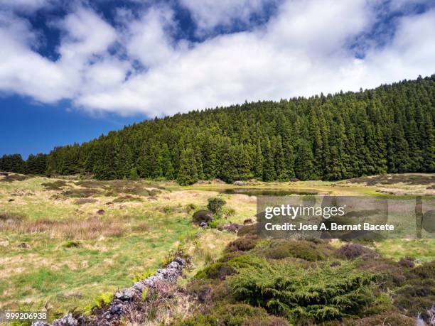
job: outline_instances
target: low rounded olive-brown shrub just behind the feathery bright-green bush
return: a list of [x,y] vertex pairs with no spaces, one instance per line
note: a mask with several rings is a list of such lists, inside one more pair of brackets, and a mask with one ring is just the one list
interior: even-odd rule
[[274,240],[262,246],[255,254],[269,259],[285,259],[294,257],[306,261],[321,261],[331,253],[328,244],[315,244],[304,240]]

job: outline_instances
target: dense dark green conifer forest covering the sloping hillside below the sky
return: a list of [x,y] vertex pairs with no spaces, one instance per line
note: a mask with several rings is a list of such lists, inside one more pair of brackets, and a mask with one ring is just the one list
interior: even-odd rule
[[360,92],[143,121],[26,161],[5,155],[0,170],[82,173],[102,180],[166,178],[181,185],[214,178],[230,183],[435,172],[434,119],[432,75]]

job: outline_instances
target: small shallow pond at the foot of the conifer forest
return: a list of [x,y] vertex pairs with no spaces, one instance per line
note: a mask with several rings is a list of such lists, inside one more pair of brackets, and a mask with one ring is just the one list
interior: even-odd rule
[[201,188],[196,190],[216,191],[229,195],[248,196],[289,196],[289,195],[317,195],[318,190],[313,189],[275,189],[275,188]]

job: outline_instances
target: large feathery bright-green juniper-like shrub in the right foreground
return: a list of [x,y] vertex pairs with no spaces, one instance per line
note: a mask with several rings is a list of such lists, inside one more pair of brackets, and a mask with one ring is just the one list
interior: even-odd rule
[[257,261],[227,278],[237,300],[294,320],[333,320],[363,315],[375,300],[371,273],[354,263],[304,271],[285,261]]

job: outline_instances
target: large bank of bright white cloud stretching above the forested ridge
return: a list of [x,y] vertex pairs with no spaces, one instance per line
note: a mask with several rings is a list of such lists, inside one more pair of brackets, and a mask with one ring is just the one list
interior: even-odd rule
[[[198,28],[249,16],[241,10],[237,16],[236,4],[246,3],[249,12],[262,6],[259,0],[204,1],[222,9],[213,7],[216,20],[201,26],[204,9],[183,1],[198,16]],[[350,44],[377,23],[379,1],[283,0],[267,23],[197,43],[176,37],[180,26],[168,6],[136,15],[119,9],[117,28],[78,6],[55,24],[62,31],[56,61],[35,50],[38,37],[26,19],[1,14],[0,89],[41,102],[70,99],[90,111],[163,116],[245,99],[358,90],[435,72],[434,10],[397,18],[390,42],[368,46],[363,58],[355,58]],[[231,14],[219,18],[220,10]]]

